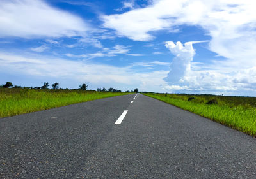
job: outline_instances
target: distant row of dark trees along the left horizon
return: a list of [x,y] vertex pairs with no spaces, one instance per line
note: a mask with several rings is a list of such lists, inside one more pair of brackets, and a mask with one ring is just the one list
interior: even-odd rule
[[[18,85],[14,85],[12,84],[12,82],[6,82],[6,84],[4,85],[0,85],[0,87],[3,87],[3,88],[23,88],[23,89],[49,89],[49,83],[48,82],[44,82],[44,85],[42,85],[41,87],[21,87],[21,86],[18,86]],[[60,87],[60,84],[59,83],[53,83],[51,85],[51,89],[62,89]],[[88,90],[87,89],[88,85],[86,85],[86,83],[83,83],[81,85],[79,85],[79,90]],[[68,90],[68,88],[66,88],[65,90]],[[94,90],[95,91],[95,90]],[[103,87],[102,89],[101,88],[97,88],[97,91],[99,92],[122,92],[122,90],[118,90],[118,89],[113,89],[112,87],[110,87],[108,90],[106,90],[105,87]],[[134,90],[131,90],[131,92],[138,92],[138,88],[134,89]],[[130,92],[129,90],[125,91],[125,92]]]

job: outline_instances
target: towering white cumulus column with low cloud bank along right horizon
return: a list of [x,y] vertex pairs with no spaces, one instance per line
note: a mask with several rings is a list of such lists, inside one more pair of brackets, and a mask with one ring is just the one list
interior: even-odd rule
[[[163,90],[187,91],[227,91],[242,92],[256,91],[256,66],[239,71],[191,70],[191,63],[195,55],[193,42],[182,45],[179,41],[166,42],[166,48],[175,57],[170,65],[171,71],[164,78],[169,85]],[[196,64],[194,64],[196,66]]]

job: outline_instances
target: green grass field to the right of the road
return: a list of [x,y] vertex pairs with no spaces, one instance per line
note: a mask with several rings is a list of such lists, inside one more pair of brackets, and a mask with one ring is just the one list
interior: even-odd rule
[[256,97],[145,94],[256,136]]

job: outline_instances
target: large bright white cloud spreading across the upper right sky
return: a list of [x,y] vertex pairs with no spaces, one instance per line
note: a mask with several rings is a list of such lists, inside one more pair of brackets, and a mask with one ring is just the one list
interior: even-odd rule
[[[115,29],[118,36],[137,41],[154,39],[151,31],[196,25],[211,36],[209,49],[236,61],[235,65],[250,66],[255,61],[256,1],[239,0],[155,0],[145,8],[122,14],[102,16],[104,27]],[[235,67],[235,66],[234,66]]]

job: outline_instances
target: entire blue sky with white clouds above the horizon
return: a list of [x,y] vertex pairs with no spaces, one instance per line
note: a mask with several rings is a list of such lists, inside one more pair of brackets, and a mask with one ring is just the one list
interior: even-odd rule
[[1,0],[0,84],[256,96],[255,0]]

